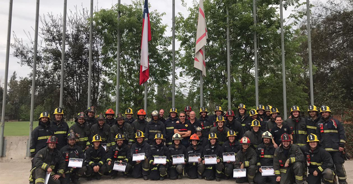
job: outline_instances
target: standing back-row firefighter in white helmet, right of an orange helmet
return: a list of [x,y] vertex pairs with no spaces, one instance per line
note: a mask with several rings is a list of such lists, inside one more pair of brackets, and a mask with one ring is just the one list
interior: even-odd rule
[[147,124],[146,133],[145,133],[145,136],[146,136],[145,141],[147,141],[149,144],[153,143],[154,136],[157,133],[161,133],[163,137],[165,137],[166,135],[164,123],[158,119],[158,111],[157,110],[152,111],[151,116],[152,116],[152,119]]

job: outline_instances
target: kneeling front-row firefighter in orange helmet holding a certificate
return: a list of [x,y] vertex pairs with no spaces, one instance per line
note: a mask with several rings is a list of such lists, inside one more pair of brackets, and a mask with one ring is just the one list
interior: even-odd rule
[[[202,179],[202,173],[205,168],[205,165],[202,164],[203,146],[199,144],[200,137],[196,134],[191,135],[189,140],[190,140],[190,146],[186,149],[187,153],[185,155],[186,162],[187,162],[187,175],[189,176],[190,179],[196,179],[196,178]],[[198,162],[190,162],[189,154],[200,154],[200,158],[198,159]]]

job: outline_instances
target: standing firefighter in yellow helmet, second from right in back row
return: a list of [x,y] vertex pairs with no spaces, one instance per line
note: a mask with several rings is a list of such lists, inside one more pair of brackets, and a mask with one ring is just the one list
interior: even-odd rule
[[315,134],[316,135],[316,127],[321,123],[321,115],[317,110],[315,105],[309,105],[308,107],[308,116],[305,117],[306,123],[306,134]]

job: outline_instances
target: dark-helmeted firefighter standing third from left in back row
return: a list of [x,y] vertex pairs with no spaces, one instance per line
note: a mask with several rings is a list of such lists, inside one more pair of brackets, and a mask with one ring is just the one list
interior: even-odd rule
[[83,151],[86,151],[90,146],[91,130],[86,123],[86,115],[81,112],[75,118],[75,124],[70,127],[68,136],[75,132],[78,141],[76,145],[79,146]]

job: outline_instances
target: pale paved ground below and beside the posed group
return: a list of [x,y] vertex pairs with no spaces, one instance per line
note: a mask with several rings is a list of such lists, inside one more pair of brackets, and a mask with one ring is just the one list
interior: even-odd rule
[[[28,184],[30,162],[0,162],[0,184]],[[346,173],[348,175],[347,182],[353,184],[353,161],[346,161],[344,164]],[[181,180],[164,180],[164,181],[144,181],[143,179],[132,179],[132,178],[116,178],[110,180],[109,177],[102,177],[101,181],[92,180],[90,182],[85,179],[80,179],[82,184],[116,184],[117,182],[124,182],[124,184],[136,184],[136,182],[143,182],[143,184],[215,184],[215,181],[205,180],[190,180],[183,178]],[[235,180],[222,180],[222,184],[234,184]]]

